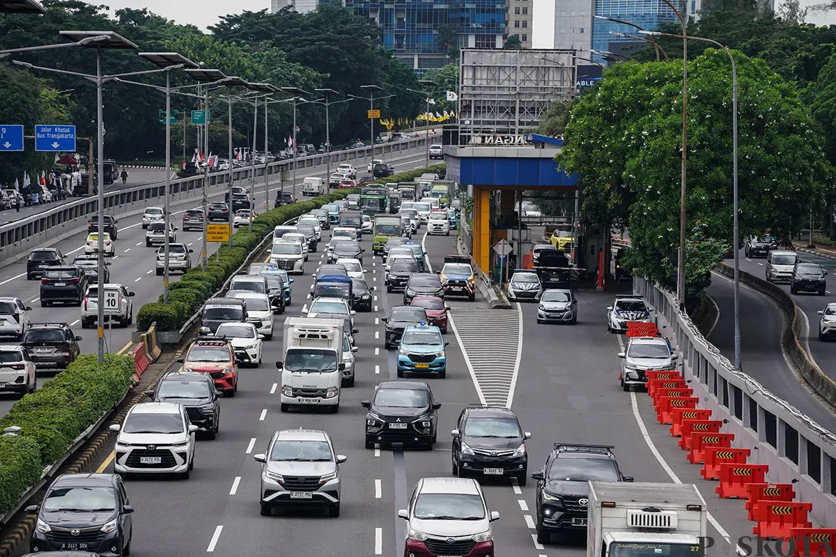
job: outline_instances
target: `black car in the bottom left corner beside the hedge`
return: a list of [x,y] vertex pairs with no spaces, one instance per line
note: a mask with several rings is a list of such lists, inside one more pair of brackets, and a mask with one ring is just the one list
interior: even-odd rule
[[50,550],[90,551],[101,557],[130,554],[134,508],[116,474],[63,473],[43,502],[26,512],[38,515],[29,541],[29,550],[38,555]]

